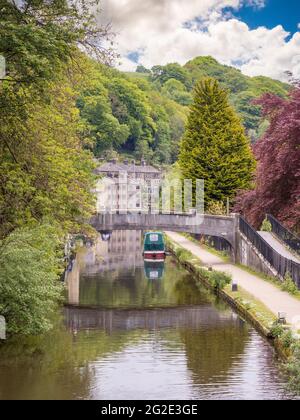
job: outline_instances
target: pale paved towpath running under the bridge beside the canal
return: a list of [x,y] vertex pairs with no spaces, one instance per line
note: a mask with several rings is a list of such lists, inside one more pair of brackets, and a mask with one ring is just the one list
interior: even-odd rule
[[234,264],[225,263],[220,257],[211,254],[184,236],[174,232],[166,233],[178,245],[200,258],[203,265],[231,274],[233,280],[256,299],[263,302],[276,316],[278,312],[285,312],[289,324],[299,324],[299,319],[295,320],[295,317],[300,318],[300,301],[298,299]]

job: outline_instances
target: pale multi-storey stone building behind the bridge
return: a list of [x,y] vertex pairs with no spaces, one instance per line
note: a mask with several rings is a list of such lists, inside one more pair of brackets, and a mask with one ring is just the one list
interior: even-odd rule
[[[96,170],[98,181],[97,212],[148,212],[151,203],[158,201],[161,171],[142,160],[102,163]],[[152,206],[153,207],[153,206]]]

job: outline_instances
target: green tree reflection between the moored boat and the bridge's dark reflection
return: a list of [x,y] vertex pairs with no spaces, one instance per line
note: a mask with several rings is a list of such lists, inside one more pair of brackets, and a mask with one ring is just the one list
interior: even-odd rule
[[82,276],[80,304],[100,307],[153,307],[202,304],[212,301],[211,294],[199,289],[193,277],[168,260],[162,279],[149,280],[144,268]]

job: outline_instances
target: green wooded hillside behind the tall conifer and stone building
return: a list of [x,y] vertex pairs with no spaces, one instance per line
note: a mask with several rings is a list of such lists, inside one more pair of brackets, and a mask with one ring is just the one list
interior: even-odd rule
[[[198,57],[185,66],[168,64],[151,70],[138,66],[122,73],[90,63],[77,105],[90,148],[96,156],[112,151],[159,164],[174,163],[184,132],[192,89],[212,76],[228,89],[251,140],[267,128],[260,107],[251,104],[264,92],[284,97],[288,86],[265,77],[250,78],[211,57]],[[89,81],[89,83],[88,83]]]

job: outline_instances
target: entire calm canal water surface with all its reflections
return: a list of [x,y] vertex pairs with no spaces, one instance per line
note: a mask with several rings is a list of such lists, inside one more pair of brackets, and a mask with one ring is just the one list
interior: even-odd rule
[[0,347],[0,399],[292,398],[270,344],[141,238],[79,251],[56,328]]

